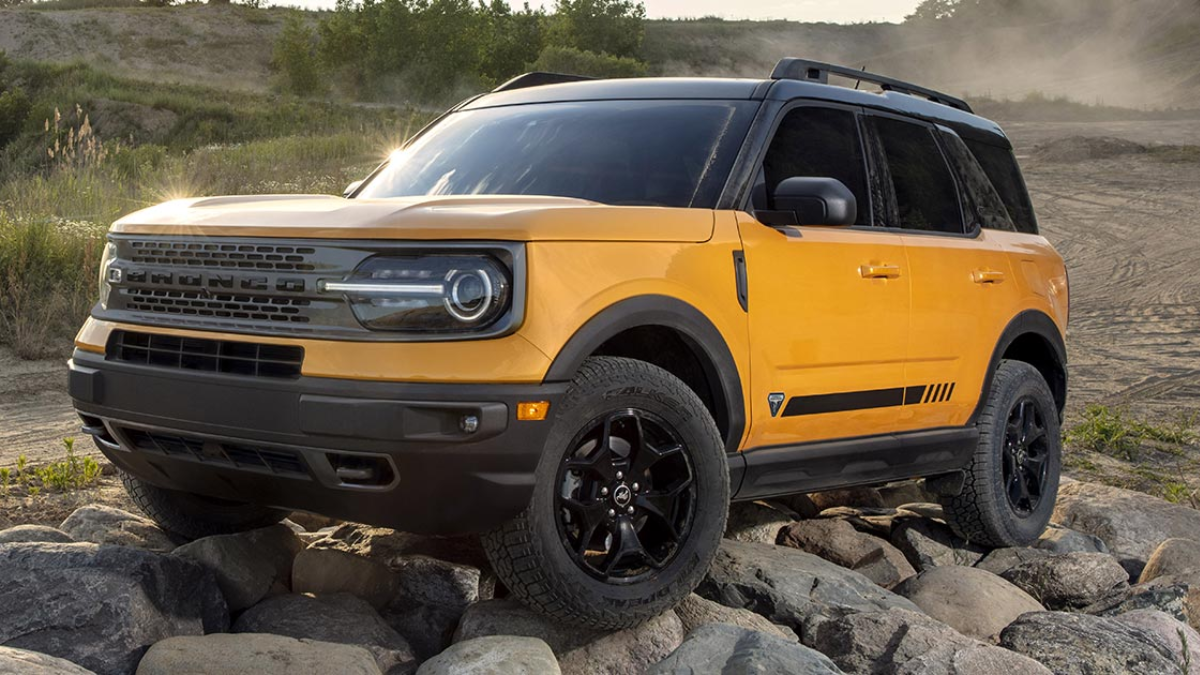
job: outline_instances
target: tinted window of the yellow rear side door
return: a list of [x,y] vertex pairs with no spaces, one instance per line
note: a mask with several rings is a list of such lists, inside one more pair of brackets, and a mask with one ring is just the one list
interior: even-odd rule
[[875,118],[905,229],[965,232],[958,189],[932,131],[914,123]]

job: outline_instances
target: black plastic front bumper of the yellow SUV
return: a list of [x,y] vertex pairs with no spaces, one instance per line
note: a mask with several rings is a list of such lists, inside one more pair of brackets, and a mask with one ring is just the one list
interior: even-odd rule
[[[84,429],[143,480],[431,534],[482,532],[529,503],[565,389],[271,380],[84,351],[70,363]],[[550,416],[517,420],[516,404],[534,400]]]

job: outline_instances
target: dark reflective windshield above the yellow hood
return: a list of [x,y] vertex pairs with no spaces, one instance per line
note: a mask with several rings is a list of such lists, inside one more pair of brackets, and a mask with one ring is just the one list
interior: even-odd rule
[[714,208],[754,101],[586,101],[454,113],[358,195],[539,195]]

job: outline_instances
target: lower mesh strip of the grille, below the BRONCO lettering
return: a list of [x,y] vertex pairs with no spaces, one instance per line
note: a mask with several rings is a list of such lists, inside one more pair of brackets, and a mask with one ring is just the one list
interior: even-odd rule
[[312,304],[305,298],[266,298],[256,295],[209,295],[198,291],[162,291],[126,288],[125,306],[137,312],[156,312],[248,321],[286,321],[308,323],[301,313]]

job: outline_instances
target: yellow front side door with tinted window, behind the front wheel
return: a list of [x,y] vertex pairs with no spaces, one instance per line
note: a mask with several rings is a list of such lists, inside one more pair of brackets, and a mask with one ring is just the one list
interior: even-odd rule
[[[786,178],[836,178],[853,227],[769,226]],[[751,340],[748,447],[892,431],[904,398],[910,277],[901,234],[872,227],[858,110],[782,113],[760,169],[757,217],[739,214]]]

